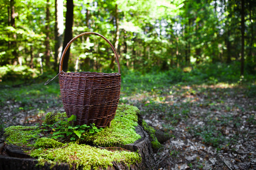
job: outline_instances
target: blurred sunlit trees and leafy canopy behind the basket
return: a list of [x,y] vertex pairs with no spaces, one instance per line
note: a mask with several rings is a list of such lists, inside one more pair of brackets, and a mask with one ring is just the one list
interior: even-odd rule
[[[112,42],[122,70],[188,71],[194,66],[228,63],[239,64],[241,75],[255,74],[255,3],[3,0],[0,79],[18,67],[32,74],[57,73],[61,49],[72,37],[87,31]],[[112,49],[97,36],[73,42],[65,58],[68,71],[117,70]]]

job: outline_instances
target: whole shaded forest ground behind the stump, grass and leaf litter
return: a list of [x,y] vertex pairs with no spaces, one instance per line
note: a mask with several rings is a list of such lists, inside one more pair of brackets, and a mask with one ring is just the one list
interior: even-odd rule
[[[148,125],[171,135],[155,150],[159,169],[256,169],[255,76],[225,69],[123,75],[119,103],[137,106]],[[34,125],[59,107],[59,85],[36,82],[1,84],[1,130]]]

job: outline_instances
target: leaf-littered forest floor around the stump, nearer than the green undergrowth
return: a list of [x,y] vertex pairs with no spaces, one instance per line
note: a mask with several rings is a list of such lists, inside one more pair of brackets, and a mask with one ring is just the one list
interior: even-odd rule
[[[137,106],[148,125],[171,135],[154,152],[159,169],[256,169],[255,90],[232,85],[175,85],[122,93],[119,104]],[[38,97],[27,99],[33,93],[23,90],[15,92],[20,92],[19,100],[2,91],[6,96],[0,128],[34,125],[61,103],[57,95],[42,97],[40,87],[34,89]]]

